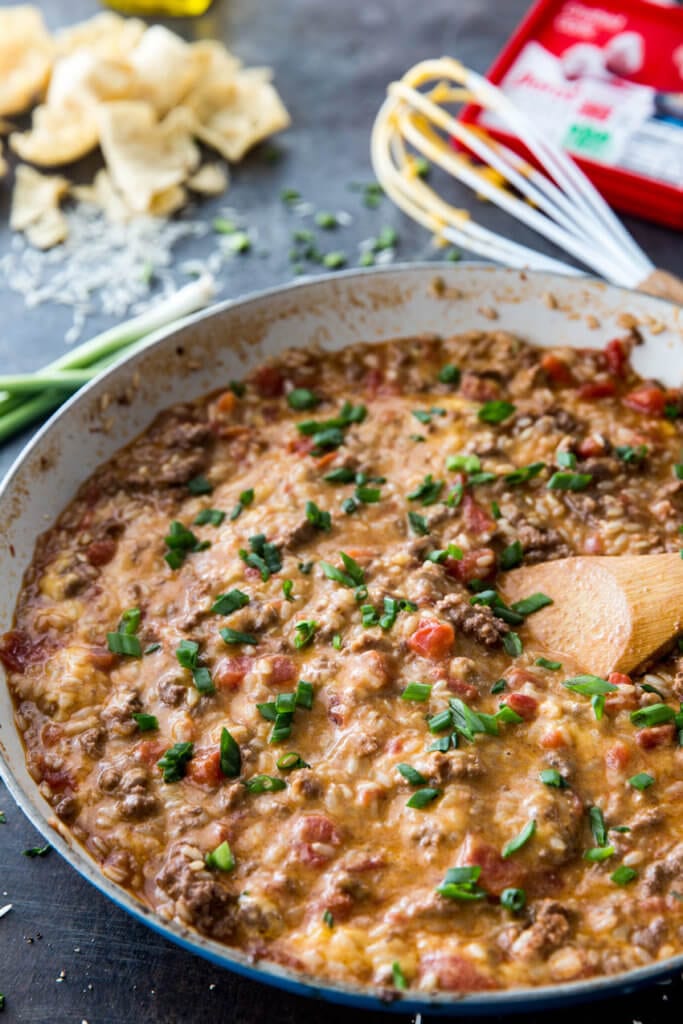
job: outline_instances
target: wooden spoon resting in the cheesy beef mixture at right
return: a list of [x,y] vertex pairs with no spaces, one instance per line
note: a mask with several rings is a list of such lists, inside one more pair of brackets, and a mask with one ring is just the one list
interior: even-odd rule
[[679,554],[561,558],[513,569],[501,581],[509,604],[536,593],[551,597],[526,628],[596,676],[631,672],[683,631]]

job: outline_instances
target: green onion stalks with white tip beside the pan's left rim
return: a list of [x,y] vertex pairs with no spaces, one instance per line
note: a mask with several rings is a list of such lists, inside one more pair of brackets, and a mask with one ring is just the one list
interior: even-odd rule
[[203,274],[139,316],[103,331],[37,373],[0,375],[0,442],[57,409],[116,362],[122,351],[129,354],[144,348],[153,332],[203,309],[213,294],[213,278]]

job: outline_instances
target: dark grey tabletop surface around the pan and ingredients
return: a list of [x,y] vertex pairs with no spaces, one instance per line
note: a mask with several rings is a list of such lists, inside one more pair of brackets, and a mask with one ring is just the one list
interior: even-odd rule
[[[45,0],[41,6],[51,27],[97,9],[94,0]],[[351,181],[372,178],[368,140],[373,116],[386,83],[418,59],[449,52],[484,71],[526,6],[525,0],[216,0],[201,22],[176,23],[188,35],[220,36],[247,62],[272,65],[294,120],[280,142],[281,163],[270,166],[257,152],[233,174],[228,202],[258,227],[258,249],[268,253],[236,261],[221,281],[221,294],[234,296],[290,280],[290,232],[297,222],[280,201],[283,186],[298,188],[317,208],[345,209],[354,216],[352,225],[330,238],[329,249],[352,255],[361,239],[393,224],[400,236],[399,258],[432,257],[426,233],[388,202],[367,211],[348,189]],[[466,202],[471,200],[463,196]],[[3,224],[6,212],[6,190],[0,187]],[[202,215],[211,217],[211,203]],[[488,226],[511,227],[489,207],[478,206],[477,215]],[[627,223],[658,265],[681,272],[680,234],[644,221]],[[512,229],[515,238],[550,251],[521,228]],[[0,229],[0,253],[8,244],[8,233]],[[182,255],[201,251],[199,244]],[[61,354],[70,323],[63,309],[25,309],[0,282],[0,358],[7,371],[32,370]],[[89,333],[105,326],[93,321]],[[0,450],[0,472],[26,439]],[[323,1018],[329,1024],[351,1018],[370,1024],[381,1019],[246,982],[176,949],[110,904],[54,853],[36,860],[23,857],[26,847],[41,841],[2,786],[0,810],[7,816],[7,824],[0,825],[0,906],[13,904],[0,920],[0,992],[7,1000],[7,1024],[312,1024]],[[545,1022],[552,1017],[557,1024],[569,1024],[580,1015],[593,1019],[599,1014],[610,1024],[659,1024],[675,1015],[678,1020],[682,993],[676,982],[599,1007],[526,1019]]]

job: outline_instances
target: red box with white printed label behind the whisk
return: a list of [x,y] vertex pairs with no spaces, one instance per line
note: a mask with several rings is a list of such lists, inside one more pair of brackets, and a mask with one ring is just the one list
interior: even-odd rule
[[[538,0],[487,78],[611,206],[683,229],[683,8]],[[466,106],[460,120],[529,156],[481,108]]]

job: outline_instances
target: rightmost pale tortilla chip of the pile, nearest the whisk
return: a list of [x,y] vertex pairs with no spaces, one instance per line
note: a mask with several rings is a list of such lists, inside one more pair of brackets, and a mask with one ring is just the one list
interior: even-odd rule
[[210,78],[186,99],[195,132],[225,160],[242,160],[248,150],[289,127],[290,116],[269,82],[269,72],[250,68],[229,81]]

